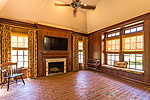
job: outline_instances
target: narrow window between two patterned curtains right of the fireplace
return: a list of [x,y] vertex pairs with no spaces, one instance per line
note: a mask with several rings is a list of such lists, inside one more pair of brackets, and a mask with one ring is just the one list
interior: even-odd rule
[[83,42],[78,42],[78,62],[83,63]]

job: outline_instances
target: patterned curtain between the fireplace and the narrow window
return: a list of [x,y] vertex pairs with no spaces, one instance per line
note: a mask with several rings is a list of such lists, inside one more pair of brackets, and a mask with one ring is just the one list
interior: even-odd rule
[[73,35],[73,71],[79,70],[79,63],[78,63],[78,41],[79,37]]

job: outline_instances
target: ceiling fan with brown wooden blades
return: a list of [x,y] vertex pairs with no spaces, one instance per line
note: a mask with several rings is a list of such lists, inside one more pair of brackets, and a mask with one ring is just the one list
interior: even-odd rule
[[71,4],[55,3],[55,6],[71,6],[72,8],[74,8],[74,10],[73,10],[74,16],[76,16],[78,8],[87,9],[87,10],[95,10],[95,8],[96,8],[96,6],[81,4],[80,0],[72,0]]

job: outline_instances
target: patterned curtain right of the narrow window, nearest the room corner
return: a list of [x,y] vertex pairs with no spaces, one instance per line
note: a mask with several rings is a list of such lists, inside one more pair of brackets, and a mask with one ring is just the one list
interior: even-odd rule
[[88,37],[83,37],[83,67],[87,69],[88,65]]

